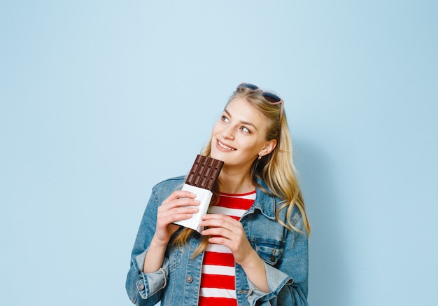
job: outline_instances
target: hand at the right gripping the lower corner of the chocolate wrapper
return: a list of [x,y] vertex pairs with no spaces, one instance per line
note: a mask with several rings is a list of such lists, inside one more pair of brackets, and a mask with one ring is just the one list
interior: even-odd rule
[[239,265],[245,265],[255,255],[246,237],[243,225],[236,219],[223,214],[206,214],[202,216],[201,225],[206,227],[202,235],[211,235],[210,243],[227,246]]

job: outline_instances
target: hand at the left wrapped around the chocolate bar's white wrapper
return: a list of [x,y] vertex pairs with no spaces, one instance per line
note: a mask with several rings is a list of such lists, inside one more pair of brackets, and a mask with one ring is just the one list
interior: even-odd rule
[[171,235],[180,228],[173,222],[192,218],[199,211],[199,201],[190,191],[176,190],[164,200],[157,211],[157,228],[153,240],[158,245],[167,245]]

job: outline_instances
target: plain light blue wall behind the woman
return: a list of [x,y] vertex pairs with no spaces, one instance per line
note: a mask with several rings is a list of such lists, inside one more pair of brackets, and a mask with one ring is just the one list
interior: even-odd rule
[[0,305],[131,305],[150,188],[285,100],[311,305],[436,305],[436,1],[0,2]]

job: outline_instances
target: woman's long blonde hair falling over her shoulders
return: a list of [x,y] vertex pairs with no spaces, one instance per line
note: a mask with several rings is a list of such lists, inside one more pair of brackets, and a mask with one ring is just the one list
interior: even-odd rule
[[[269,193],[278,197],[281,202],[276,210],[276,219],[278,223],[281,223],[288,230],[295,230],[296,232],[301,232],[301,230],[295,228],[292,224],[291,216],[292,210],[296,206],[299,209],[303,222],[304,230],[306,230],[307,235],[310,235],[311,227],[309,220],[306,215],[306,207],[304,204],[304,198],[302,192],[299,188],[299,183],[297,181],[297,170],[292,161],[292,140],[290,139],[290,132],[288,127],[288,122],[286,120],[285,113],[283,111],[283,116],[281,116],[281,104],[269,104],[264,97],[262,97],[261,90],[251,90],[249,88],[237,88],[233,95],[229,98],[229,102],[233,99],[241,98],[246,102],[249,102],[258,111],[264,114],[267,118],[267,140],[276,139],[277,144],[274,150],[262,157],[261,160],[257,158],[254,160],[253,165],[250,169],[251,178],[253,179],[254,186],[262,188],[257,183],[257,178],[262,179],[266,183],[268,190],[264,190],[264,193]],[[227,106],[225,106],[226,108]],[[280,118],[281,116],[281,118]],[[201,154],[204,156],[209,156],[211,152],[211,139],[204,146]],[[213,193],[214,197],[211,204],[217,204],[219,200],[218,196],[218,184],[216,184]],[[283,222],[279,218],[279,213],[281,210],[286,209],[286,221]],[[192,234],[193,230],[184,228],[178,235],[176,235],[173,240],[174,244],[182,247],[186,244],[188,238]],[[193,254],[195,258],[199,253],[202,253],[206,248],[209,237],[204,237],[203,241]]]

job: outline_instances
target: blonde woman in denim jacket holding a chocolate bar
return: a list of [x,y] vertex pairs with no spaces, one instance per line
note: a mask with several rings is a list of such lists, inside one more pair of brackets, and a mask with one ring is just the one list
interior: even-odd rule
[[307,305],[309,222],[283,100],[239,85],[202,155],[222,160],[202,235],[173,222],[198,211],[183,176],[158,183],[132,251],[136,305]]

